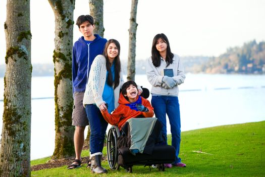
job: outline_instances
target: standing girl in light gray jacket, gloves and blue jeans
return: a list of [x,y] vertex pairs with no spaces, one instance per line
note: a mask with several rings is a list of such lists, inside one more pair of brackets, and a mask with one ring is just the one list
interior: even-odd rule
[[[169,117],[172,134],[172,146],[176,149],[174,166],[186,167],[178,157],[180,150],[180,109],[179,87],[184,82],[184,68],[180,57],[170,50],[169,40],[163,33],[156,34],[153,38],[152,56],[146,63],[147,79],[152,85],[151,104],[154,108],[155,117],[161,121],[162,135],[167,140],[167,120]],[[167,142],[167,141],[166,141]],[[172,164],[165,164],[171,168]]]

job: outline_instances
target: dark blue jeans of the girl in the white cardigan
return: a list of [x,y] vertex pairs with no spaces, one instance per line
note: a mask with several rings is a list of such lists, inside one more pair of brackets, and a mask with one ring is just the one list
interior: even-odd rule
[[96,105],[86,105],[86,115],[90,125],[90,153],[102,152],[108,122]]

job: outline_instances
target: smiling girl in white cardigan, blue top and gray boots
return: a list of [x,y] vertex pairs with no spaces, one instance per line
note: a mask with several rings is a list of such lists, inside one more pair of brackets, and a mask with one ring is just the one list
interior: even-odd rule
[[120,63],[120,43],[110,39],[102,55],[95,57],[89,72],[83,104],[90,125],[91,170],[106,173],[101,167],[104,136],[108,126],[100,111],[111,113],[118,106],[121,85],[124,83]]

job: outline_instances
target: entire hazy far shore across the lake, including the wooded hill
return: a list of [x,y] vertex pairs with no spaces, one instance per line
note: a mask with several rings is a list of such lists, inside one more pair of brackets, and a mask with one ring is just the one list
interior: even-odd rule
[[[228,48],[219,57],[213,56],[180,56],[188,73],[212,74],[264,74],[265,73],[265,42],[255,40],[246,42],[242,47]],[[146,59],[136,59],[136,74],[145,74]],[[121,60],[124,72],[127,60]],[[0,77],[5,76],[5,65],[0,65]],[[32,76],[53,76],[54,64],[32,64]]]

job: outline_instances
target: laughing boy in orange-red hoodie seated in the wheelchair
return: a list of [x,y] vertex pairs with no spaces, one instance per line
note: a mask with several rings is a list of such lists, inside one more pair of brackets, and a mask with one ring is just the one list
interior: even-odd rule
[[153,117],[150,102],[138,96],[137,84],[130,80],[122,85],[118,103],[119,106],[112,114],[107,110],[101,111],[104,119],[117,125],[122,132],[124,139],[118,138],[118,147],[129,147],[133,155],[138,152],[151,154],[154,144],[162,143],[163,139],[162,125]]

